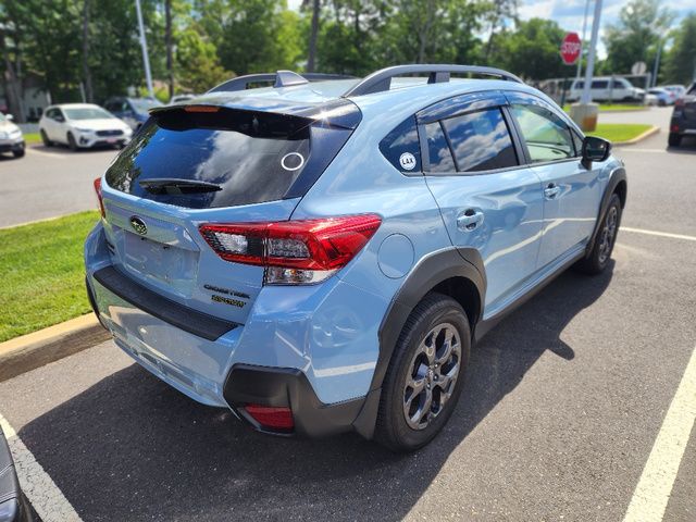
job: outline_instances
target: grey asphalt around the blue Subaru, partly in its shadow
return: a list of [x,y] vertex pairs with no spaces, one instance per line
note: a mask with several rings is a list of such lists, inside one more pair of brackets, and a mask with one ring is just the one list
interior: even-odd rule
[[[696,347],[696,140],[666,141],[617,150],[630,185],[611,270],[561,275],[494,330],[423,450],[256,434],[109,341],[0,383],[35,507],[47,522],[621,521],[637,501],[648,521],[667,501],[663,520],[696,520],[696,428],[671,414]],[[655,460],[674,423],[691,430],[683,456]],[[675,478],[635,496],[648,462]]]

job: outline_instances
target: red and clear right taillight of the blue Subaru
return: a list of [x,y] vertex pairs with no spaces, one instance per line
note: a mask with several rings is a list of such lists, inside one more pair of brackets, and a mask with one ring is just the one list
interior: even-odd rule
[[200,233],[226,261],[265,266],[265,283],[324,281],[344,268],[380,227],[375,214],[201,225]]

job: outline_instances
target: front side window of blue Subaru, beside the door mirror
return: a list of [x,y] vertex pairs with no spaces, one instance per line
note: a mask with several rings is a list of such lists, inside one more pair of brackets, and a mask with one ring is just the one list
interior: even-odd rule
[[573,158],[575,150],[566,122],[538,105],[512,105],[532,163]]

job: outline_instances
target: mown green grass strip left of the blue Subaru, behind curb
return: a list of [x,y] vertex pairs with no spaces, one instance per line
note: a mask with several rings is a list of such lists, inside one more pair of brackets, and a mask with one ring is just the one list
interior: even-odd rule
[[96,211],[0,231],[0,341],[90,311],[83,244]]

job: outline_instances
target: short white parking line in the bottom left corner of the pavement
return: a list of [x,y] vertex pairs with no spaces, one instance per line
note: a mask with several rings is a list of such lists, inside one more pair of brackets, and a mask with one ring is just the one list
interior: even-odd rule
[[44,522],[80,522],[82,519],[75,509],[2,414],[0,414],[0,427],[4,432],[14,458],[22,490],[41,520]]

